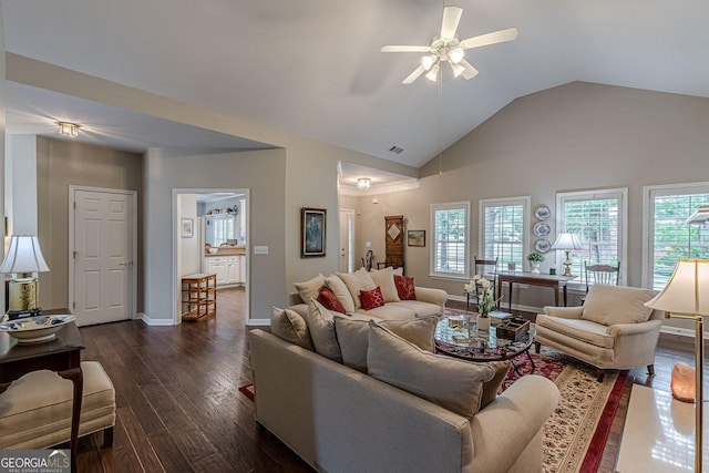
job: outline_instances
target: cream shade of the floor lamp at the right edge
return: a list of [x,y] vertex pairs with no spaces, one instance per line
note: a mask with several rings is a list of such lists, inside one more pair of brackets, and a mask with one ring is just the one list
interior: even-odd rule
[[709,316],[709,259],[680,259],[672,277],[647,307],[666,312]]

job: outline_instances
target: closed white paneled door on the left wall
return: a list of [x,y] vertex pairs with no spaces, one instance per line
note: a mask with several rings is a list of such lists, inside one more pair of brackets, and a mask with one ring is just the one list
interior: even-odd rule
[[134,198],[132,192],[73,189],[70,299],[79,326],[132,316]]

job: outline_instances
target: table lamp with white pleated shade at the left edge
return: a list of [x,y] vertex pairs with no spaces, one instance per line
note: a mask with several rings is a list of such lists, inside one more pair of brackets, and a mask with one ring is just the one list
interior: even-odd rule
[[40,243],[35,236],[12,235],[10,237],[10,248],[0,265],[0,273],[14,274],[8,290],[8,315],[39,315],[37,307],[39,299],[39,281],[32,273],[49,271]]

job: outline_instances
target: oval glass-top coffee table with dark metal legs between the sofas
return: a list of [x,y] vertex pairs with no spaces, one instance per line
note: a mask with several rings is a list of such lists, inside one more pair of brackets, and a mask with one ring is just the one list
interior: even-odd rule
[[[512,360],[524,352],[527,354],[532,372],[534,372],[534,360],[530,354],[530,348],[534,342],[535,335],[535,327],[531,325],[530,330],[520,340],[506,340],[497,338],[494,327],[487,331],[477,331],[473,319],[471,319],[469,329],[465,329],[459,319],[449,320],[448,317],[444,317],[439,320],[435,327],[434,342],[439,351],[467,361]],[[522,376],[514,362],[512,366],[517,374]]]

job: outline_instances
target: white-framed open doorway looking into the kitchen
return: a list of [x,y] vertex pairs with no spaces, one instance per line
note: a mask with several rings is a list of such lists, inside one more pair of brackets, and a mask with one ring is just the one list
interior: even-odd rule
[[[249,191],[173,189],[173,226],[174,323],[182,322],[182,277],[194,274],[217,276],[217,316],[234,309],[248,320]],[[227,296],[227,291],[240,294],[219,297],[219,292]]]

